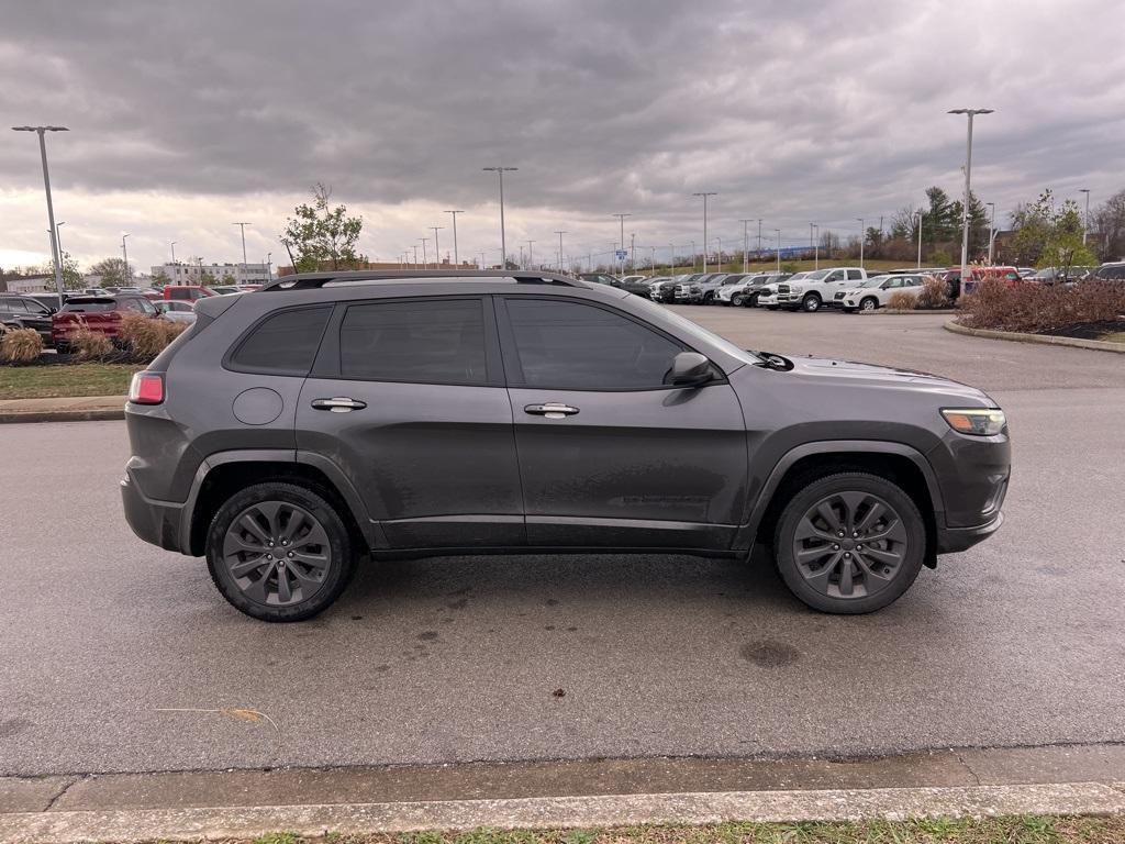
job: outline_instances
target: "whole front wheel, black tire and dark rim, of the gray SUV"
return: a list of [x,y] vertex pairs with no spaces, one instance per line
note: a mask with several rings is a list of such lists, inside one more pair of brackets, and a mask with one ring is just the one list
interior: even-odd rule
[[[849,502],[856,501],[863,503],[853,509]],[[826,502],[830,513],[839,517],[839,528],[847,522],[858,529],[847,527],[840,536],[820,515]],[[864,509],[867,502],[870,510]],[[863,526],[868,513],[874,521]],[[881,521],[884,518],[886,522]],[[853,536],[846,536],[848,530]],[[874,541],[864,546],[865,537]],[[798,548],[802,549],[801,562]],[[845,556],[849,559],[843,559]],[[881,610],[910,589],[925,558],[926,522],[914,500],[886,478],[862,472],[829,475],[808,484],[785,504],[774,532],[774,559],[782,580],[800,601],[821,612]]]

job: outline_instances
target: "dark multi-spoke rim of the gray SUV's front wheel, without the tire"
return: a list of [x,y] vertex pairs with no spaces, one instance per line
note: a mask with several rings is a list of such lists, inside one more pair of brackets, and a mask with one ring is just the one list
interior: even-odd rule
[[865,492],[827,495],[801,517],[793,559],[822,595],[868,598],[886,589],[909,551],[902,518],[885,499]]

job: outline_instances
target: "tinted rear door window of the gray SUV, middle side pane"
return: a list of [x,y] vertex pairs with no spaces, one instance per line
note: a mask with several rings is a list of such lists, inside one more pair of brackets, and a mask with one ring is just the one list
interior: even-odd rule
[[348,308],[340,375],[418,384],[483,384],[485,321],[479,299],[380,302]]

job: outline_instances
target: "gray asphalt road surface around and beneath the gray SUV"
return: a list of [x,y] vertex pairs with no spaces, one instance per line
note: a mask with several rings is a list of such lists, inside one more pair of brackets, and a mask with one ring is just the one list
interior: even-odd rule
[[129,532],[123,423],[3,425],[0,774],[1125,740],[1125,358],[940,317],[684,312],[990,390],[1008,522],[867,617],[804,609],[762,559],[529,556],[380,564],[270,626]]

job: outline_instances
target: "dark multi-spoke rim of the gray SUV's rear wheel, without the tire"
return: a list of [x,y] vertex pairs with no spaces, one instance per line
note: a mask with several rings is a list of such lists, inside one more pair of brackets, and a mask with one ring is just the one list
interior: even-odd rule
[[305,508],[263,501],[243,510],[223,538],[223,563],[251,601],[291,607],[324,586],[332,567],[328,533]]

